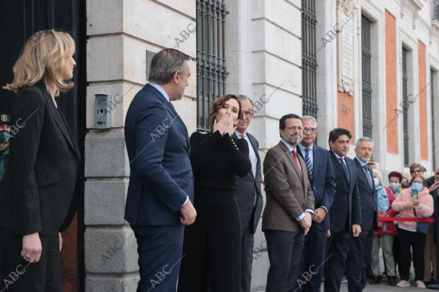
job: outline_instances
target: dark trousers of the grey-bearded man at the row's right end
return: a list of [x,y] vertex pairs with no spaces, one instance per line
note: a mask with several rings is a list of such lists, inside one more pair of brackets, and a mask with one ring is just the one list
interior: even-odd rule
[[355,238],[349,235],[349,255],[347,263],[348,290],[360,292],[366,286],[367,263],[370,262],[372,245],[369,245],[370,238],[373,239],[373,230],[362,230],[360,236]]

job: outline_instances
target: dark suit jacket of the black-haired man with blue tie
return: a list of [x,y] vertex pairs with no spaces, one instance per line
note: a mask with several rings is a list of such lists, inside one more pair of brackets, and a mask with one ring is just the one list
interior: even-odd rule
[[337,181],[336,194],[329,211],[331,231],[341,231],[348,224],[350,230],[353,224],[361,225],[360,194],[358,194],[357,168],[352,159],[345,156],[349,168],[350,180],[345,175],[343,167],[332,151],[331,155],[333,172]]

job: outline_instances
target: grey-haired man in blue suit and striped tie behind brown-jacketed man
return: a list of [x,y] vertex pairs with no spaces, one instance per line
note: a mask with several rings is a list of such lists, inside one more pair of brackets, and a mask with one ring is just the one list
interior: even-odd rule
[[[317,121],[314,117],[304,116],[303,139],[297,151],[307,165],[309,182],[314,192],[314,218],[309,233],[305,237],[304,250],[300,261],[300,274],[308,271],[311,279],[297,279],[297,291],[319,292],[321,274],[320,267],[326,255],[326,230],[329,230],[329,210],[336,192],[336,178],[329,151],[314,145],[317,137]],[[316,269],[316,267],[320,267]],[[309,271],[311,269],[311,271]],[[305,284],[306,283],[306,284]]]

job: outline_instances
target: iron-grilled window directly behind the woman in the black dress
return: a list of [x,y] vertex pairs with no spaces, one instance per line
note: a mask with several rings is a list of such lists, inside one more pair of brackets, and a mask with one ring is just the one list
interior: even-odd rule
[[224,0],[197,0],[197,130],[210,131],[209,110],[224,95]]

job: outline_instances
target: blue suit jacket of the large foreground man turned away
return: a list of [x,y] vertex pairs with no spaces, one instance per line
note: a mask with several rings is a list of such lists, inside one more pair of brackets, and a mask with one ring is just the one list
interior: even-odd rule
[[134,226],[180,225],[179,209],[193,201],[193,173],[185,124],[173,105],[147,84],[125,119],[130,158],[125,220]]

